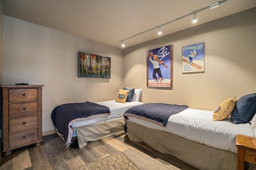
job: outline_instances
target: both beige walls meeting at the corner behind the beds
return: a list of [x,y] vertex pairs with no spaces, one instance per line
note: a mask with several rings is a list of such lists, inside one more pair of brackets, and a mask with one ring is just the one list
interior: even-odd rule
[[[43,131],[53,129],[50,113],[55,106],[113,100],[123,86],[142,88],[141,101],[145,103],[214,110],[227,98],[256,92],[255,17],[253,8],[122,51],[3,16],[2,84],[45,85]],[[181,47],[201,42],[205,43],[205,72],[182,74]],[[147,88],[146,51],[171,44],[173,89]],[[111,78],[78,78],[78,51],[111,57]]]

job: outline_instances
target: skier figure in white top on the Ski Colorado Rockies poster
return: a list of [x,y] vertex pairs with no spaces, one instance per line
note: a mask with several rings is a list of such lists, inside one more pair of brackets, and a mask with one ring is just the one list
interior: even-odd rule
[[[152,57],[154,57],[154,60],[152,60]],[[154,67],[153,78],[155,79],[155,82],[157,82],[158,80],[160,82],[163,82],[164,79],[163,79],[163,76],[161,74],[159,63],[164,64],[164,61],[160,61],[158,59],[158,55],[154,55],[153,52],[150,53],[149,61],[153,64],[153,67]],[[159,79],[157,78],[156,73],[158,74]]]

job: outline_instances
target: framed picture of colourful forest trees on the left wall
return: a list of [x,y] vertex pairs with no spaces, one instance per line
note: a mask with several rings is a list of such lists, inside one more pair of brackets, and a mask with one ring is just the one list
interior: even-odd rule
[[110,57],[83,52],[78,57],[78,77],[110,78]]

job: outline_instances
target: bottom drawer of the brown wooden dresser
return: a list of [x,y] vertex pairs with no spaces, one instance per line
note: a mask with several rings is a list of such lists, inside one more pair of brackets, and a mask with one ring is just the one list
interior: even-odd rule
[[9,135],[9,147],[16,147],[38,140],[38,129],[31,129]]

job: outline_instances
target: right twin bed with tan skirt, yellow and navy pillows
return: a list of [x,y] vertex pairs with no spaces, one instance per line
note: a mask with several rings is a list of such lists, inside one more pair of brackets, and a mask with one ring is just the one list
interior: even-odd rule
[[[161,108],[158,107],[160,111]],[[154,112],[148,115],[148,110],[140,106],[128,109],[124,117],[131,141],[144,142],[198,169],[236,170],[236,135],[256,137],[255,113],[256,93],[237,101],[236,98],[225,100],[215,111],[183,109],[170,115],[166,125]],[[213,121],[216,117],[221,119]],[[245,167],[256,169],[255,164],[248,162]]]

